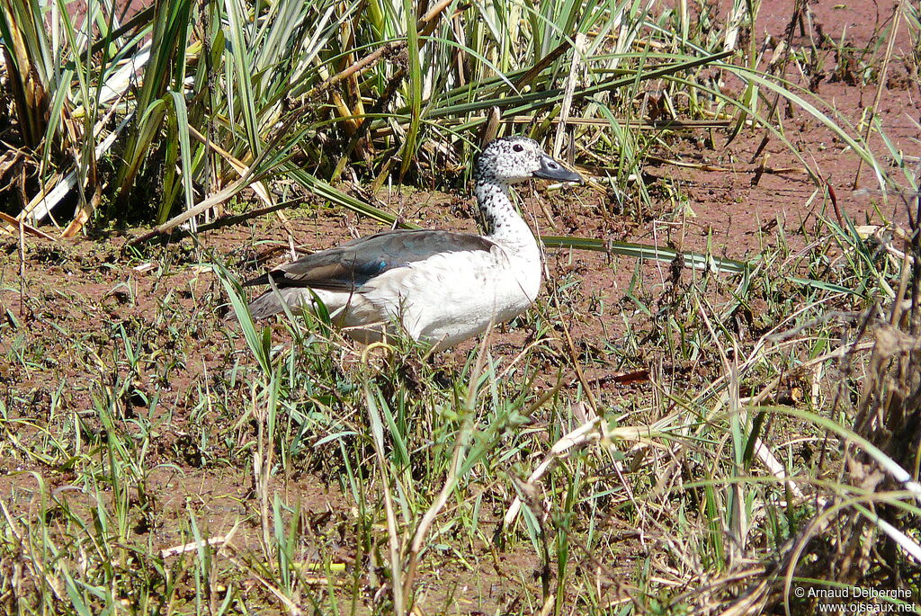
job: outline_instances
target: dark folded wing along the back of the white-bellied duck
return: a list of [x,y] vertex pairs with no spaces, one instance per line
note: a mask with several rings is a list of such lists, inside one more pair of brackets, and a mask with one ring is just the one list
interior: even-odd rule
[[375,276],[424,261],[439,252],[492,250],[490,240],[469,233],[397,229],[381,231],[367,238],[347,241],[336,248],[314,252],[254,278],[244,286],[268,285],[269,277],[279,288],[309,286],[330,291],[350,291]]

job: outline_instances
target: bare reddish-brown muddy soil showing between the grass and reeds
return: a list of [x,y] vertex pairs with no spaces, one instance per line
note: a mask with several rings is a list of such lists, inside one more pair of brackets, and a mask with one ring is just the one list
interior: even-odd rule
[[[768,35],[774,41],[785,38],[793,4],[792,0],[764,3],[755,29],[759,49]],[[787,76],[803,87],[811,86],[848,122],[858,125],[876,94],[875,81],[864,83],[861,71],[865,65],[878,69],[881,64],[888,32],[885,27],[892,19],[893,5],[892,0],[840,6],[812,4],[813,26],[809,29],[807,25],[805,35],[797,28],[793,46],[809,45],[810,40],[822,36],[830,39],[824,45],[821,62],[806,67],[802,73],[795,63],[790,63]],[[915,122],[921,110],[918,105],[921,89],[911,56],[912,41],[908,40],[905,30],[903,26],[895,42],[878,111],[882,130],[892,143],[906,154],[917,154],[921,131]],[[834,43],[840,41],[845,31],[846,41],[858,51],[839,62],[835,58]],[[766,46],[768,58],[774,44]],[[810,74],[810,70],[814,73]],[[738,84],[727,76],[725,87],[738,87]],[[855,182],[857,157],[819,122],[799,111],[789,115],[787,109],[782,108],[780,114],[787,139],[808,157],[810,165],[819,169],[822,180],[834,191],[840,214],[852,217],[857,224],[904,220],[904,203],[897,198],[890,198],[888,203],[884,201],[866,165],[860,180]],[[686,138],[676,139],[671,151],[654,153],[668,160],[680,159],[721,169],[681,168],[665,163],[649,165],[646,169],[651,177],[647,181],[652,185],[668,182],[677,188],[676,192],[686,194],[693,214],[676,213],[678,205],[664,197],[660,211],[637,214],[630,211],[629,204],[622,207],[612,203],[608,196],[588,188],[567,190],[563,197],[547,195],[542,189],[524,190],[528,209],[534,213],[531,222],[542,232],[554,235],[671,243],[686,250],[706,250],[709,245],[717,256],[733,259],[746,259],[756,254],[762,250],[763,242],[774,242],[781,229],[792,245],[801,245],[801,229],[814,225],[818,215],[834,218],[834,207],[824,198],[822,186],[817,187],[801,172],[802,163],[776,137],[772,136],[755,157],[764,135],[764,131],[745,130],[727,143],[725,134],[714,133],[710,136],[715,143],[708,144],[708,135],[688,134]],[[878,135],[870,137],[870,145],[878,154],[887,151]],[[767,167],[788,170],[764,173],[752,185],[756,170],[766,155],[770,155],[766,159]],[[889,157],[881,158],[889,160]],[[406,220],[426,227],[473,229],[468,210],[446,207],[455,200],[445,195],[406,192],[402,196],[379,196],[391,211],[400,213]],[[352,215],[325,210],[291,215],[291,224],[297,241],[308,249],[325,248],[378,228]],[[257,547],[259,540],[259,507],[251,490],[251,466],[248,462],[233,460],[232,442],[224,450],[213,448],[203,458],[198,445],[200,435],[190,427],[190,418],[192,413],[198,412],[194,409],[199,399],[197,388],[209,385],[209,375],[222,373],[238,361],[249,361],[241,359],[249,354],[240,353],[245,344],[232,332],[232,324],[222,320],[223,314],[201,308],[219,303],[213,298],[221,296],[223,291],[213,273],[196,269],[193,264],[208,262],[209,255],[214,254],[230,264],[241,277],[247,276],[256,271],[254,257],[266,251],[266,245],[257,242],[268,240],[273,242],[269,246],[284,247],[287,238],[276,220],[267,217],[249,227],[205,233],[199,240],[201,248],[198,249],[193,247],[191,240],[184,239],[167,249],[151,248],[143,257],[135,258],[126,256],[130,251],[122,250],[125,238],[121,235],[57,242],[27,238],[25,277],[20,279],[17,241],[6,239],[0,244],[0,315],[10,325],[0,338],[0,401],[6,403],[9,419],[26,418],[38,424],[55,421],[54,413],[61,410],[87,410],[92,405],[91,397],[99,395],[94,383],[100,380],[114,383],[127,371],[123,362],[114,361],[114,358],[124,357],[121,328],[132,340],[137,340],[137,334],[143,332],[145,343],[163,350],[162,364],[146,366],[135,383],[148,399],[159,397],[151,420],[161,424],[154,439],[155,447],[146,459],[146,466],[154,469],[148,479],[148,489],[156,502],[154,519],[145,531],[152,533],[150,544],[154,549],[162,549],[180,543],[181,538],[175,530],[177,520],[188,520],[192,509],[207,535],[227,533],[236,520],[245,520],[235,542],[237,550],[243,551],[247,547]],[[286,257],[278,253],[266,261],[274,264],[284,259]],[[155,267],[145,271],[143,266],[148,262]],[[605,344],[616,344],[624,331],[618,313],[619,307],[624,306],[624,290],[634,272],[634,262],[612,260],[594,252],[548,250],[547,268],[551,276],[548,286],[552,288],[569,276],[581,281],[581,292],[567,296],[574,303],[566,303],[562,308],[564,314],[571,315],[570,333],[577,346],[597,351]],[[660,296],[670,275],[668,264],[647,262],[640,271],[649,292]],[[20,302],[20,289],[26,298],[24,303]],[[599,303],[610,308],[603,315],[595,316]],[[157,314],[163,315],[162,320],[154,320]],[[635,320],[641,319],[642,316],[635,317]],[[18,325],[13,324],[14,320]],[[276,335],[277,342],[285,342],[279,332],[276,331]],[[525,337],[524,331],[496,333],[495,354],[517,354]],[[447,358],[441,361],[449,365],[452,358],[461,360],[472,344],[446,354]],[[175,349],[182,350],[184,359],[181,364],[171,366],[170,361],[177,359],[171,354]],[[18,354],[22,359],[11,361],[8,354]],[[596,365],[587,366],[587,377],[598,387],[597,395],[606,403],[645,397],[649,393],[646,383],[624,385],[610,377],[617,372],[649,368],[656,356],[656,350],[650,349],[650,356],[637,357],[634,366],[612,366],[601,358]],[[87,374],[86,366],[94,365],[99,366],[99,371]],[[548,366],[548,374],[552,373],[550,368],[552,366]],[[245,387],[230,395],[239,402],[240,408],[249,403]],[[133,403],[138,413],[146,412],[146,403]],[[131,406],[128,404],[129,408]],[[90,423],[88,429],[101,427]],[[217,424],[213,429],[212,437],[237,439],[237,444],[252,437],[249,427],[240,430],[232,424]],[[23,435],[23,438],[28,437]],[[31,475],[22,474],[22,471],[41,473],[44,481],[55,490],[65,488],[73,479],[69,471],[47,468],[38,462],[29,465],[21,460],[18,456],[13,463],[0,460],[2,493],[14,508],[35,506],[33,496],[37,486]],[[316,528],[311,532],[346,533],[344,529],[354,523],[350,498],[340,492],[337,482],[330,481],[321,472],[304,471],[295,477],[277,477],[273,487],[283,501],[291,506],[299,505],[308,519],[315,520]],[[76,492],[61,494],[79,498]],[[488,518],[495,524],[501,515],[502,507],[496,506]],[[624,579],[630,579],[634,574],[634,559],[641,561],[649,548],[635,540],[634,533],[628,529],[611,531],[624,537],[623,558],[616,565],[616,571]],[[479,549],[486,554],[489,548],[481,545]],[[342,541],[335,556],[345,563],[354,562],[354,546],[350,540]],[[431,558],[437,561],[436,556]],[[457,613],[493,613],[522,600],[507,595],[511,585],[500,574],[517,580],[522,577],[535,580],[533,573],[539,561],[524,548],[500,552],[497,558],[493,566],[473,573],[462,570],[449,557],[438,566],[427,563],[421,579],[428,589],[426,610],[440,609],[444,605],[442,601],[452,592],[459,599],[451,604],[451,610]],[[484,557],[479,562],[490,560]],[[497,573],[503,568],[505,571]],[[471,582],[458,586],[455,580],[462,577]],[[473,582],[475,579],[479,581]],[[533,586],[537,592],[539,582],[534,581]]]

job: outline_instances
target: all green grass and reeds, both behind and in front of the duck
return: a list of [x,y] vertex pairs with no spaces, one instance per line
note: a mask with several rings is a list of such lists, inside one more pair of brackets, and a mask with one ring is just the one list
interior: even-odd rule
[[[323,314],[253,322],[236,283],[250,257],[194,241],[117,257],[157,255],[152,314],[122,318],[139,306],[131,283],[25,294],[0,315],[6,611],[808,612],[791,586],[839,580],[902,583],[916,603],[916,442],[892,437],[916,434],[916,225],[900,236],[834,215],[767,109],[779,97],[821,122],[887,188],[916,190],[914,169],[878,124],[850,126],[760,71],[753,37],[736,44],[755,16],[734,6],[717,23],[686,3],[163,2],[123,28],[90,2],[87,40],[58,3],[5,4],[0,34],[23,35],[6,79],[33,75],[38,95],[16,108],[20,137],[41,186],[76,172],[76,227],[163,222],[248,184],[390,224],[340,180],[458,188],[482,140],[512,132],[560,134],[588,190],[642,220],[657,199],[635,181],[645,157],[688,130],[671,120],[763,129],[818,205],[798,248],[781,224],[746,262],[545,237],[634,273],[619,303],[592,302],[612,328],[597,347],[567,341],[596,292],[577,274],[511,326],[524,343],[495,334],[435,356],[399,337],[358,347]],[[130,88],[115,78],[129,62],[146,64]],[[716,69],[742,80],[737,98]],[[653,85],[660,122],[644,112]],[[192,275],[207,282],[176,284]],[[31,335],[36,320],[70,357]],[[81,378],[37,381],[63,362]]]

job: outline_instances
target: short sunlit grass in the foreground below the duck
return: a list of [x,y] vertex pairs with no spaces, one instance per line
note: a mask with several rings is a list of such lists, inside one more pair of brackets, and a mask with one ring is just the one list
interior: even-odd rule
[[[63,382],[41,420],[20,412],[44,408],[26,391],[0,401],[4,456],[32,469],[14,476],[3,504],[4,566],[25,564],[5,591],[23,613],[449,610],[443,593],[504,604],[472,582],[437,584],[437,570],[472,577],[498,567],[507,577],[489,585],[519,597],[502,608],[517,613],[716,604],[739,599],[740,571],[779,580],[765,597],[780,600],[775,554],[801,550],[823,506],[887,503],[917,515],[910,492],[867,492],[838,474],[839,437],[874,450],[846,423],[845,401],[863,395],[856,375],[839,383],[829,375],[845,359],[848,370],[866,369],[862,315],[886,296],[880,281],[898,290],[901,275],[888,269],[887,252],[848,235],[853,228],[818,218],[813,248],[781,244],[766,256],[789,273],[765,268],[747,283],[685,270],[669,291],[650,294],[637,270],[634,290],[608,308],[624,311],[631,329],[603,361],[633,366],[646,356],[641,365],[652,370],[619,403],[577,386],[574,366],[591,359],[562,350],[553,295],[519,325],[537,336],[526,353],[477,347],[432,363],[400,339],[363,352],[310,315],[286,316],[270,335],[248,320],[218,268],[239,322],[216,318],[226,301],[217,295],[201,297],[200,322],[176,322],[168,294],[157,308],[165,330],[115,325],[112,344],[75,337],[87,370],[97,366],[87,409],[75,408]],[[787,282],[803,270],[860,292]],[[580,286],[574,277],[551,293],[577,302]],[[125,290],[126,305],[130,297]],[[191,411],[178,429],[169,412],[176,392],[165,388],[177,373],[159,345],[176,341],[169,361],[190,365],[188,334],[203,327],[236,351],[183,394]],[[28,338],[4,351],[24,371],[47,361]],[[542,356],[558,370],[547,374]],[[144,380],[152,372],[163,378]],[[585,424],[593,413],[595,424]],[[765,468],[759,443],[783,474]],[[223,469],[251,486],[238,513],[210,524],[215,510],[192,500],[165,516],[168,497],[150,482],[184,481],[196,469]],[[308,476],[325,478],[331,510],[285,495],[283,486]],[[515,498],[519,514],[504,521]],[[164,537],[168,547],[191,547],[164,555]],[[509,568],[507,554],[520,564]],[[619,590],[623,579],[632,599]],[[705,595],[675,591],[704,581]]]

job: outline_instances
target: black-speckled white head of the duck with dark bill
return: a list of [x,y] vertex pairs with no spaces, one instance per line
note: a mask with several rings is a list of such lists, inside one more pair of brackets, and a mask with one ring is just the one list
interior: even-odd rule
[[581,181],[579,174],[565,169],[544,154],[541,146],[528,137],[503,137],[489,142],[476,157],[473,179],[477,182],[514,184],[530,178]]

